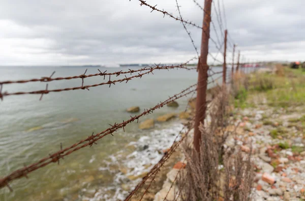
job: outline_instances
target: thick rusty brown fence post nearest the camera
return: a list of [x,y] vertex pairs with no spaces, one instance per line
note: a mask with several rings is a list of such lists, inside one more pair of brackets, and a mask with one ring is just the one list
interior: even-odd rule
[[202,25],[202,38],[201,38],[201,52],[198,62],[198,85],[197,85],[197,99],[196,99],[196,116],[194,128],[194,148],[199,153],[201,133],[199,131],[200,123],[204,123],[205,110],[206,110],[206,89],[207,89],[207,54],[208,54],[208,40],[210,33],[211,21],[211,5],[212,0],[204,1],[204,15]]

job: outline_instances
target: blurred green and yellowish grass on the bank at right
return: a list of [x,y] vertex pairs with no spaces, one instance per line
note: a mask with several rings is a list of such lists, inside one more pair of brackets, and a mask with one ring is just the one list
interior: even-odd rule
[[300,106],[305,102],[305,71],[277,65],[273,72],[236,74],[233,86],[234,106],[251,107],[267,102],[269,106]]

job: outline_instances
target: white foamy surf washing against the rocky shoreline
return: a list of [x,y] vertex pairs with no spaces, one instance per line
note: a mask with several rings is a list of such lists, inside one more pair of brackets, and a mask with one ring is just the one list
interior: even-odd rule
[[[139,176],[142,173],[147,173],[163,156],[162,150],[169,148],[174,140],[179,140],[176,136],[179,134],[183,125],[180,123],[174,123],[169,128],[154,130],[147,133],[146,136],[140,137],[138,141],[132,141],[129,145],[133,145],[137,150],[129,154],[125,158],[121,158],[122,151],[109,156],[111,162],[109,164],[117,164],[120,167],[124,167],[127,170],[126,174],[121,172],[114,176],[113,184],[111,188],[99,189],[94,198],[90,200],[120,200],[124,199],[129,192],[121,188],[121,185],[128,185],[130,189],[133,189],[140,181],[141,178],[136,180],[129,180],[128,176]],[[145,149],[144,149],[145,146]],[[148,147],[147,147],[148,146]],[[106,163],[106,161],[105,161]],[[104,170],[105,168],[99,168]],[[115,189],[115,193],[110,195],[107,191]]]

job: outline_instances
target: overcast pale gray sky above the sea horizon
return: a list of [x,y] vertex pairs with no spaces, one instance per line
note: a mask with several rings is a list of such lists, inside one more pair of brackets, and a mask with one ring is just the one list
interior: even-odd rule
[[[230,38],[248,59],[305,59],[304,0],[223,1]],[[146,2],[178,15],[175,0]],[[193,0],[178,3],[184,19],[202,26],[203,13]],[[222,42],[216,16],[213,8]],[[201,30],[187,27],[200,49]],[[0,30],[1,65],[179,63],[196,56],[179,21],[150,13],[138,0],[1,0]],[[218,40],[212,27],[211,38]],[[209,50],[217,53],[211,41]]]

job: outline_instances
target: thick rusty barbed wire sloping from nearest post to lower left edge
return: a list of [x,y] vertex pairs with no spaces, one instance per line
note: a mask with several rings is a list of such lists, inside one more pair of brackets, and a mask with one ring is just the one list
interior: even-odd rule
[[[150,114],[150,113],[153,113],[154,110],[159,109],[159,108],[163,107],[164,105],[166,105],[166,104],[168,104],[168,103],[170,103],[170,102],[172,102],[172,101],[174,101],[176,99],[179,99],[181,97],[187,96],[188,94],[196,91],[197,89],[191,90],[196,85],[197,85],[197,83],[191,85],[190,87],[188,87],[187,89],[181,91],[180,93],[175,94],[175,95],[169,97],[167,100],[158,103],[153,108],[149,108],[149,109],[146,109],[146,110],[144,109],[144,112],[142,112],[138,116],[131,117],[129,120],[123,121],[120,124],[114,123],[114,125],[110,125],[111,126],[110,128],[108,128],[108,129],[106,129],[106,130],[104,130],[104,131],[102,131],[100,133],[97,133],[95,135],[94,135],[94,133],[92,133],[92,135],[88,136],[86,139],[83,139],[83,140],[75,143],[74,145],[72,145],[72,146],[70,146],[68,148],[63,149],[62,145],[61,145],[60,146],[60,151],[58,151],[56,153],[53,153],[53,154],[50,154],[48,157],[45,157],[45,158],[39,160],[36,163],[33,163],[31,165],[24,166],[23,168],[17,169],[15,171],[13,171],[13,173],[11,173],[10,175],[0,179],[0,188],[3,188],[5,186],[7,186],[9,189],[12,189],[9,186],[9,182],[11,182],[13,180],[16,180],[16,179],[20,179],[22,177],[27,177],[27,175],[29,173],[31,173],[32,171],[35,171],[35,170],[37,170],[39,168],[42,168],[42,167],[44,167],[44,166],[46,166],[46,165],[48,165],[50,163],[58,163],[59,164],[59,159],[63,159],[64,156],[70,155],[73,152],[75,152],[75,151],[77,151],[79,149],[82,149],[84,147],[87,147],[87,146],[92,147],[94,144],[96,144],[96,141],[98,141],[99,139],[103,138],[106,135],[109,135],[109,134],[113,135],[112,133],[117,131],[119,128],[123,128],[123,130],[125,131],[124,127],[127,124],[132,123],[132,122],[134,122],[136,120],[138,122],[140,117],[145,116],[145,115]],[[86,143],[84,143],[84,142],[86,142]],[[84,144],[81,145],[82,143],[84,143]]]

